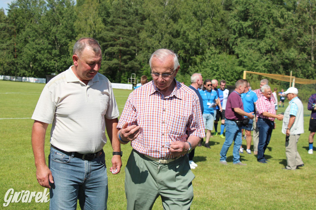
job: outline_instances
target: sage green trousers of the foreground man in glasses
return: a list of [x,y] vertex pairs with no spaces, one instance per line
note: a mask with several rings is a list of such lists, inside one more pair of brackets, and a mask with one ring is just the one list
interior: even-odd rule
[[159,195],[164,209],[190,209],[194,177],[187,155],[161,164],[133,149],[125,167],[127,209],[151,209]]

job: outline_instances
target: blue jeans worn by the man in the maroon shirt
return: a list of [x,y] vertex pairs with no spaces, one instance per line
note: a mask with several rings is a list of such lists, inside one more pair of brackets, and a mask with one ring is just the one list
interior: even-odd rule
[[226,161],[226,154],[227,151],[232,145],[234,141],[234,149],[233,149],[233,163],[239,163],[240,155],[239,155],[239,148],[242,143],[241,137],[241,126],[238,126],[232,120],[225,120],[225,128],[226,128],[226,135],[225,135],[225,142],[221,149],[221,159],[220,161]]

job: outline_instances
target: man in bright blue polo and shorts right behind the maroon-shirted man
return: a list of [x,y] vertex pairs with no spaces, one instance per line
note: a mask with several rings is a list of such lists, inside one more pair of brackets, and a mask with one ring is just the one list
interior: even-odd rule
[[[255,110],[256,101],[258,100],[257,94],[253,92],[252,90],[249,90],[250,83],[248,82],[246,85],[245,92],[241,94],[241,100],[244,104],[244,111],[246,113],[253,113]],[[247,116],[245,116],[247,118]],[[251,145],[251,131],[252,131],[252,123],[253,120],[249,119],[248,125],[243,125],[242,129],[245,129],[246,131],[246,145],[247,154],[251,154],[250,145]],[[243,148],[240,147],[239,152],[243,151]]]

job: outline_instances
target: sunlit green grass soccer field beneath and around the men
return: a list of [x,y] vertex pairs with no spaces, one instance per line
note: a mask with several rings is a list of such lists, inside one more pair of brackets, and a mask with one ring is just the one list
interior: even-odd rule
[[[0,81],[0,209],[48,209],[49,203],[10,203],[3,207],[7,190],[44,191],[36,180],[36,169],[31,147],[31,116],[45,84]],[[114,90],[119,111],[122,112],[130,90]],[[311,92],[312,94],[312,92]],[[288,102],[285,102],[285,106]],[[301,135],[298,151],[305,166],[295,171],[282,170],[286,166],[285,135],[281,121],[265,153],[268,164],[259,164],[256,156],[241,154],[247,166],[232,163],[232,147],[228,150],[228,166],[219,164],[219,153],[224,139],[210,139],[211,149],[198,147],[193,170],[194,199],[191,209],[316,209],[316,152],[308,155],[308,122],[310,111],[304,104],[305,133]],[[278,113],[285,110],[280,108]],[[218,126],[220,128],[220,125]],[[49,126],[48,130],[50,130]],[[45,153],[49,154],[49,133],[46,133]],[[246,141],[243,140],[246,149]],[[112,148],[104,147],[107,165],[111,165]],[[314,151],[316,148],[314,147]],[[123,167],[131,146],[122,145]],[[46,162],[48,162],[46,160]],[[108,209],[126,209],[124,192],[125,172],[112,175],[108,170]],[[80,207],[78,207],[80,209]],[[157,199],[153,209],[162,209]]]

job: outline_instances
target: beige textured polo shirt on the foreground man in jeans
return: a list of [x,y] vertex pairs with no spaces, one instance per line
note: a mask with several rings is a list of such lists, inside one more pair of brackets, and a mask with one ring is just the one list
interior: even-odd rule
[[98,73],[85,85],[70,67],[46,84],[32,119],[52,123],[50,142],[55,147],[94,153],[106,143],[105,117],[119,117],[110,81]]

